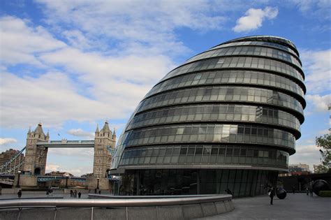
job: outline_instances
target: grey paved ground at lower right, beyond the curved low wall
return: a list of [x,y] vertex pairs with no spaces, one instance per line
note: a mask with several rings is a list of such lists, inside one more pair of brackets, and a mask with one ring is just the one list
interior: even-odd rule
[[213,217],[200,218],[215,219],[331,219],[331,198],[313,197],[306,193],[288,193],[283,200],[274,197],[270,205],[270,197],[256,196],[233,199],[235,210]]

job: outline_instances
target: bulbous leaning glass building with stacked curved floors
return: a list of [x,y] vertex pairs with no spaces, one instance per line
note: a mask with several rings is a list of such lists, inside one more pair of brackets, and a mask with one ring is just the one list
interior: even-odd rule
[[295,153],[305,91],[284,38],[237,38],[191,57],[126,124],[112,161],[120,194],[266,193]]

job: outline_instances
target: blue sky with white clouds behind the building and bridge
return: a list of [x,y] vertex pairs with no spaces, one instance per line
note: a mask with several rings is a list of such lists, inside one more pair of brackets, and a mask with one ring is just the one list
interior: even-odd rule
[[[189,57],[233,38],[293,41],[307,85],[302,137],[289,163],[320,163],[330,127],[331,1],[0,1],[0,152],[29,126],[51,140],[117,138],[143,96]],[[49,149],[46,172],[91,173],[93,149]]]

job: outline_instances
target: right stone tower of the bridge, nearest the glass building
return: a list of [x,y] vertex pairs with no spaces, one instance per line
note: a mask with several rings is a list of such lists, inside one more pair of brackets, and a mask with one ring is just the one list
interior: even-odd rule
[[108,148],[115,149],[116,133],[110,131],[109,124],[106,121],[103,128],[99,131],[96,126],[94,137],[94,163],[93,175],[98,178],[96,188],[108,189],[108,170],[112,165],[112,155]]

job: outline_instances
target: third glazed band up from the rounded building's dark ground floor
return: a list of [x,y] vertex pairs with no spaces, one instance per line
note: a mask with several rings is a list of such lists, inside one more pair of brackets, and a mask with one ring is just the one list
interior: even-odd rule
[[178,105],[157,108],[134,117],[128,125],[128,129],[164,123],[201,122],[202,119],[204,122],[274,124],[288,126],[290,129],[296,129],[297,132],[300,132],[299,120],[288,112],[265,106],[233,104]]

